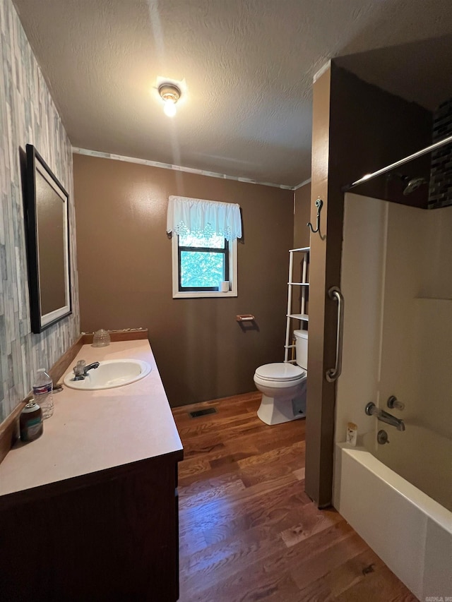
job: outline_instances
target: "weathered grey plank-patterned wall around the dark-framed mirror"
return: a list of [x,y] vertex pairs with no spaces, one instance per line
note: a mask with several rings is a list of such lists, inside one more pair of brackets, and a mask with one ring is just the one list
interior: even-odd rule
[[[11,0],[0,1],[0,422],[79,332],[71,144]],[[73,315],[30,332],[20,149],[35,145],[70,195]]]

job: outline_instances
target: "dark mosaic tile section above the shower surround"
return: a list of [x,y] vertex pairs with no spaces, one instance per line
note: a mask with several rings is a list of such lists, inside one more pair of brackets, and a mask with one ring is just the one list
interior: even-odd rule
[[[433,116],[432,143],[452,134],[452,98],[439,105]],[[452,145],[432,152],[429,209],[452,205]]]

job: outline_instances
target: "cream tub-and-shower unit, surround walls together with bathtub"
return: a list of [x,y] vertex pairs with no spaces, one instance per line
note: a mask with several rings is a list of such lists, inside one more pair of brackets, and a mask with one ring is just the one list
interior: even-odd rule
[[[452,591],[451,231],[452,207],[345,196],[334,505],[420,599]],[[403,411],[388,409],[391,395]],[[405,431],[367,416],[369,402]]]

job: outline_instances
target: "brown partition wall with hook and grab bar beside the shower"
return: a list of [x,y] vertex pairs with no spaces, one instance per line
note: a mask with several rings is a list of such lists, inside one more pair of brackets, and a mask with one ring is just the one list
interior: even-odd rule
[[335,363],[337,303],[327,291],[340,285],[341,188],[424,148],[431,128],[425,109],[334,63],[314,83],[311,221],[317,196],[323,208],[321,231],[311,236],[306,491],[319,506],[331,502],[333,478],[335,383],[326,381],[325,372]]

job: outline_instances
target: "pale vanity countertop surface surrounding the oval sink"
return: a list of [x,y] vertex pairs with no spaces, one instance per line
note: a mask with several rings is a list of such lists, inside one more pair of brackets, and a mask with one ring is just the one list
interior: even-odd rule
[[[0,464],[0,495],[16,493],[163,454],[182,443],[147,340],[83,345],[86,363],[133,358],[147,361],[150,373],[114,389],[54,392],[54,414],[31,443],[16,443]],[[65,374],[66,374],[65,373]],[[62,382],[61,378],[61,382]]]

